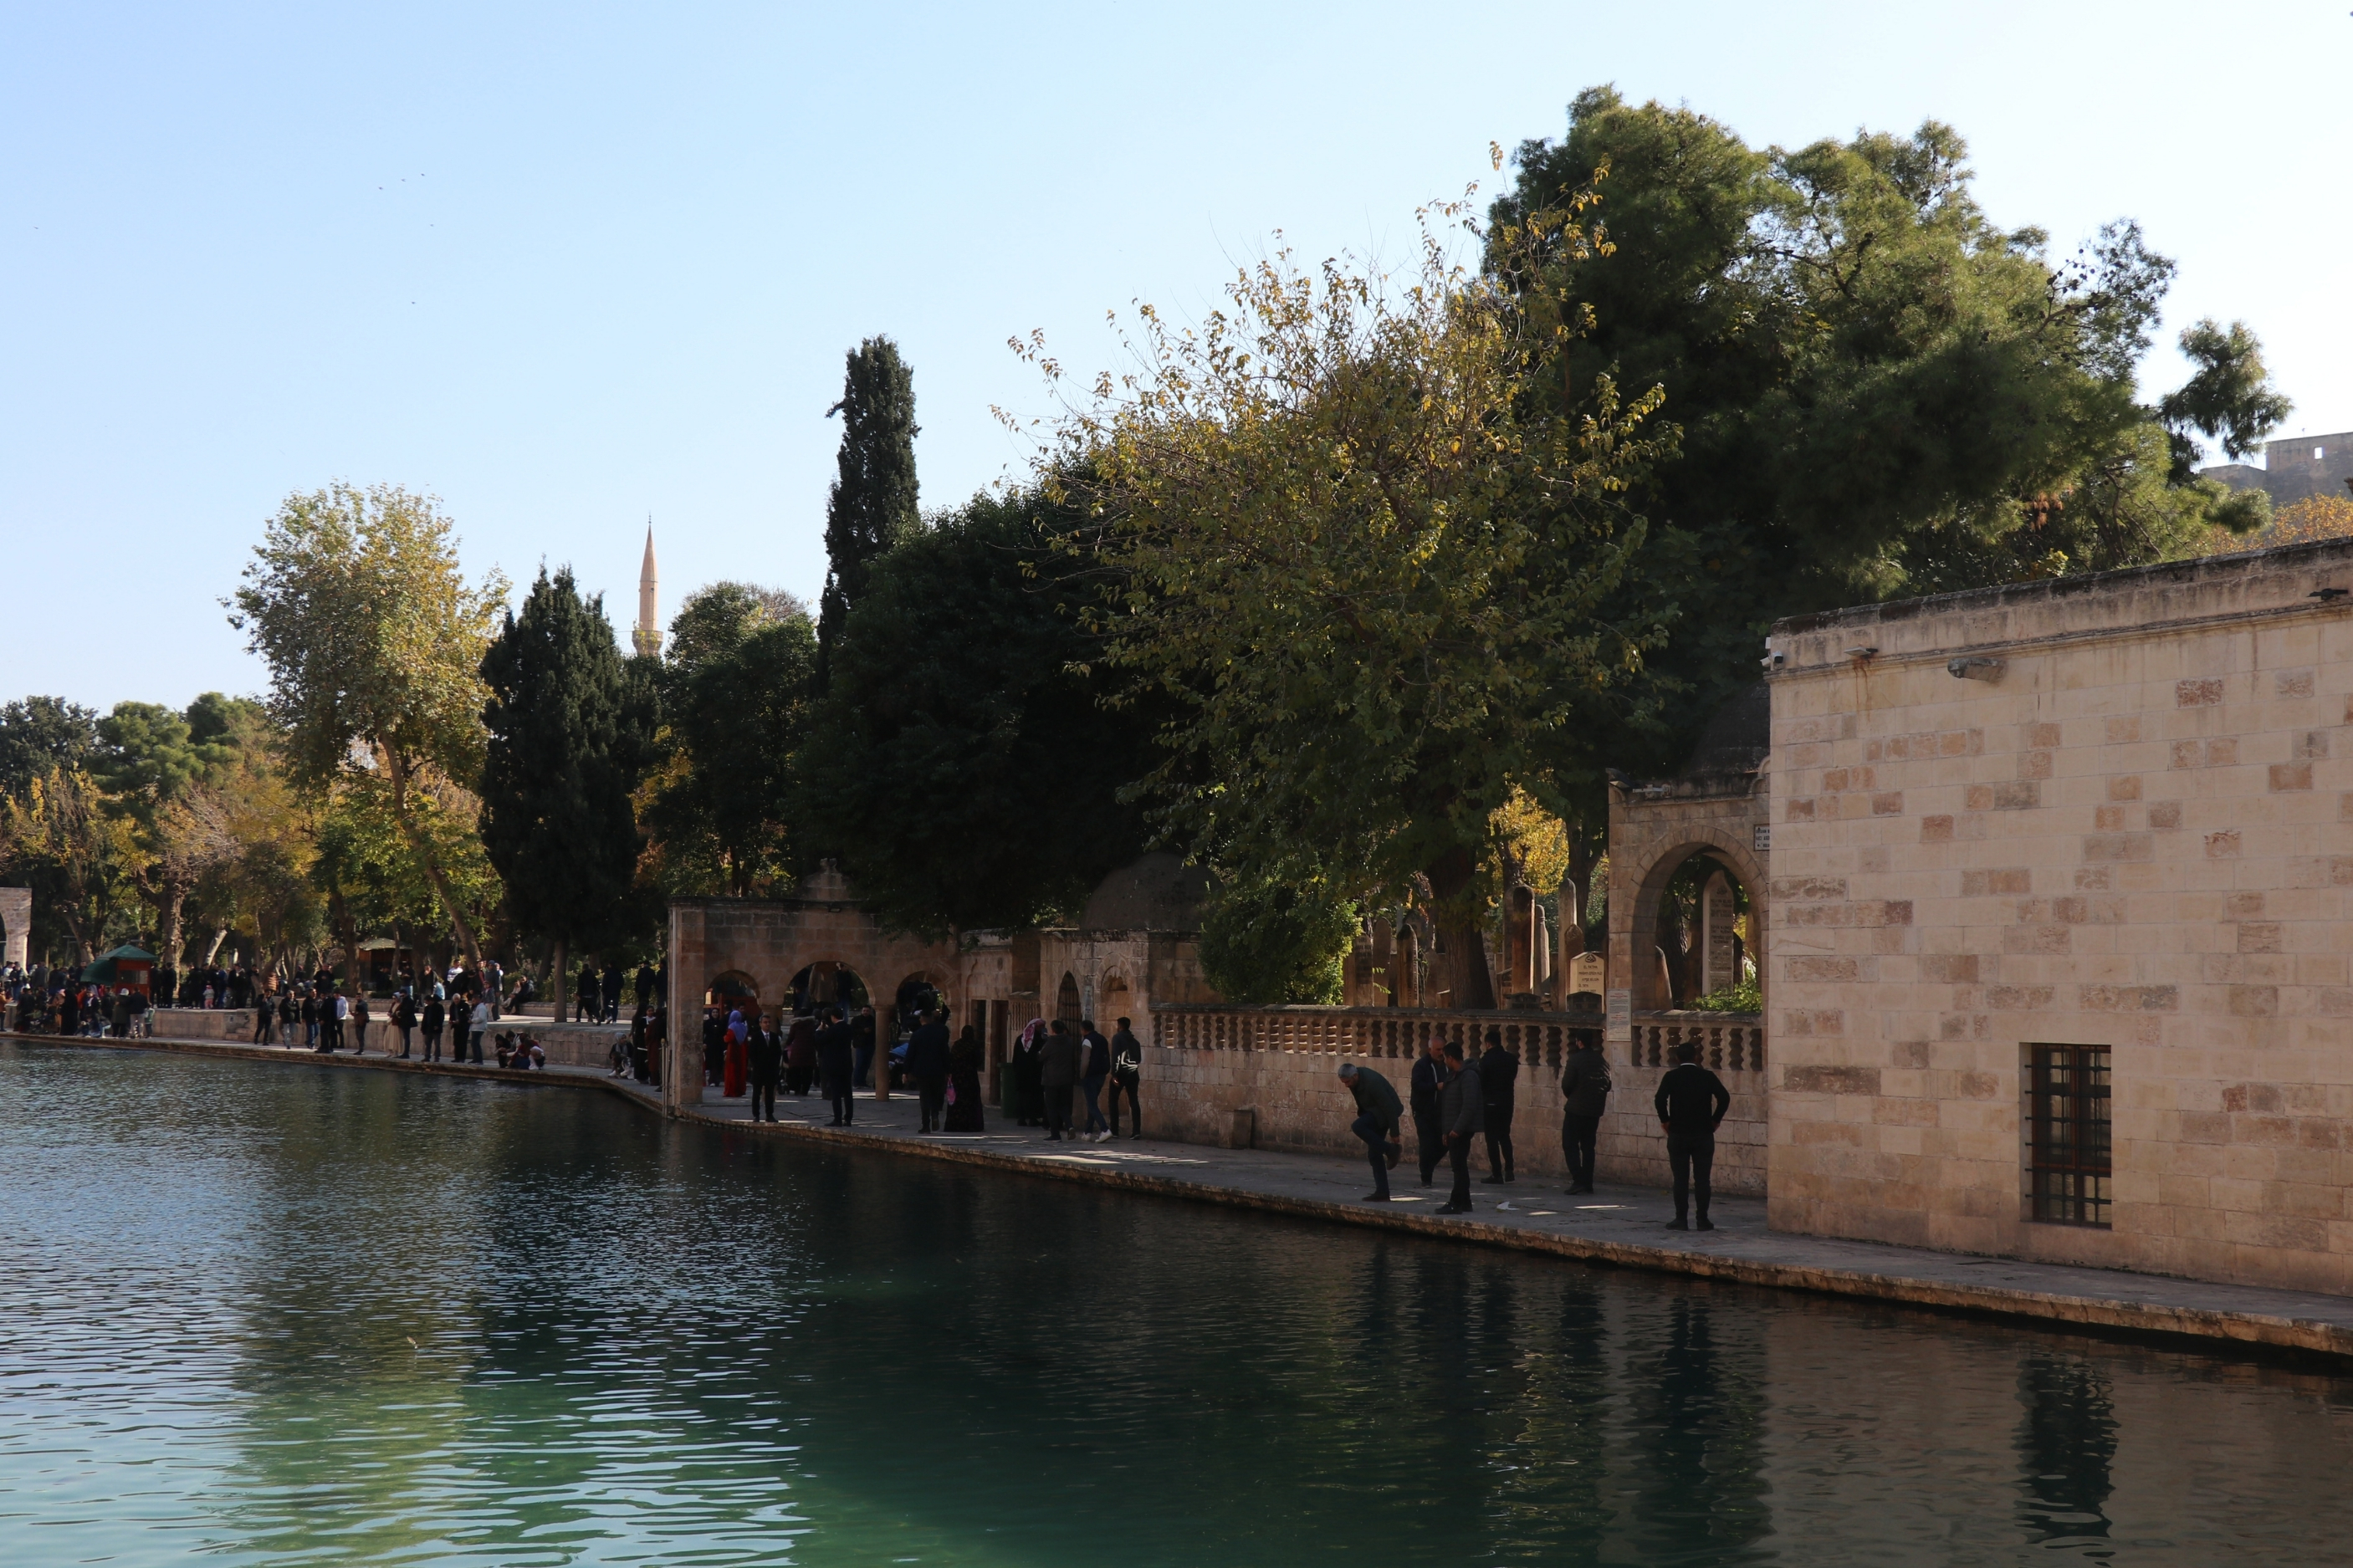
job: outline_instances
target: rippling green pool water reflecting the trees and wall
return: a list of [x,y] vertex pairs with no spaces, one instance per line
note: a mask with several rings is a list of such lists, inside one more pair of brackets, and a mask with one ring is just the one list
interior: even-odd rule
[[2353,1380],[0,1046],[0,1563],[2334,1563]]

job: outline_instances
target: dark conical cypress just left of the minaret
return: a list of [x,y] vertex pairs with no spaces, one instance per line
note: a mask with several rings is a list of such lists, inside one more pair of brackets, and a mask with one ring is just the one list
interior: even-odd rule
[[642,766],[638,703],[605,621],[572,569],[546,567],[482,656],[489,755],[482,764],[482,849],[506,879],[515,922],[555,943],[555,1016],[576,945],[626,926],[638,872],[628,792]]

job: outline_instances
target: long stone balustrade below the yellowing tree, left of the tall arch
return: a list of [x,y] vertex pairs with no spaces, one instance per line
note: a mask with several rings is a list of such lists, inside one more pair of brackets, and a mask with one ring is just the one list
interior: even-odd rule
[[1438,1039],[1478,1051],[1501,1030],[1525,1067],[1560,1067],[1569,1030],[1602,1027],[1600,1013],[1454,1013],[1407,1006],[1226,1006],[1153,1009],[1153,1044],[1172,1051],[1329,1051],[1409,1060]]

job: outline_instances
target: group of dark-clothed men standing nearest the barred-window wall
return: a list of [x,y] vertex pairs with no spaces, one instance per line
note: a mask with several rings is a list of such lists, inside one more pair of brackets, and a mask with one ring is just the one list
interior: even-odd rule
[[[1485,1051],[1466,1056],[1454,1039],[1424,1046],[1407,1079],[1409,1100],[1374,1067],[1355,1060],[1339,1065],[1339,1079],[1355,1100],[1351,1131],[1365,1143],[1372,1164],[1367,1204],[1391,1201],[1388,1173],[1405,1157],[1405,1117],[1414,1119],[1414,1145],[1421,1185],[1435,1180],[1440,1159],[1454,1173],[1454,1190],[1438,1213],[1471,1213],[1473,1140],[1487,1143],[1487,1185],[1518,1180],[1511,1147],[1511,1117],[1520,1053],[1504,1044],[1504,1030],[1489,1027]],[[1593,1154],[1602,1114],[1609,1110],[1609,1058],[1602,1056],[1600,1030],[1569,1030],[1569,1053],[1560,1070],[1560,1154],[1569,1168],[1569,1194],[1593,1192]],[[1659,1131],[1666,1135],[1666,1161],[1673,1173],[1675,1218],[1668,1229],[1715,1229],[1708,1220],[1715,1168],[1715,1128],[1732,1110],[1725,1081],[1699,1065],[1699,1046],[1675,1048],[1675,1067],[1659,1079],[1652,1098]]]

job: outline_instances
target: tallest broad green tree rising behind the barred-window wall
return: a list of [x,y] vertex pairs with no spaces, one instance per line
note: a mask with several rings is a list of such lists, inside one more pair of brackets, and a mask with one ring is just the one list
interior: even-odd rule
[[[1671,621],[1649,672],[1673,701],[1593,736],[1624,762],[1680,762],[1777,616],[2160,559],[2261,522],[2167,461],[2169,428],[2245,440],[2268,416],[2252,341],[2221,346],[2214,397],[2144,407],[2134,364],[2172,263],[2132,223],[2054,263],[2040,230],[1988,221],[1962,160],[1934,122],[1751,148],[1607,87],[1577,96],[1562,141],[1520,146],[1489,266],[1591,313],[1532,388],[1572,400],[1614,376],[1659,388],[1671,421],[1631,475],[1654,531],[1621,602]],[[1607,242],[1548,240],[1544,214],[1595,181]]]

